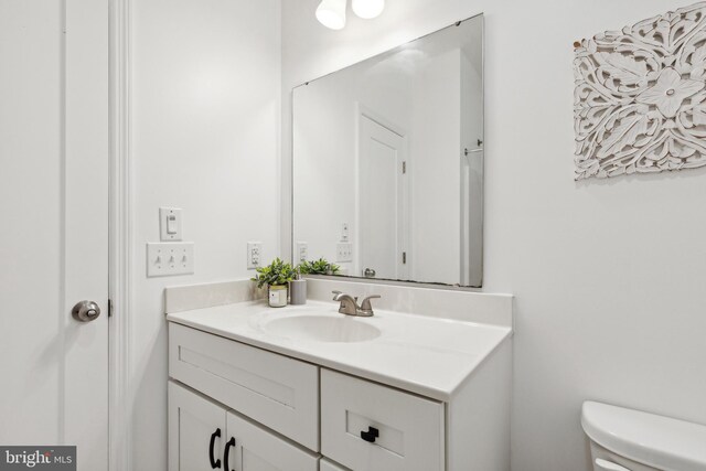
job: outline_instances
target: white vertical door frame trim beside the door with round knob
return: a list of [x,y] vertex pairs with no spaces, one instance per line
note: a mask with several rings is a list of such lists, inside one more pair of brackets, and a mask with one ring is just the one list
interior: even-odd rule
[[131,0],[109,1],[109,322],[108,469],[129,471],[131,456],[132,162],[130,152]]

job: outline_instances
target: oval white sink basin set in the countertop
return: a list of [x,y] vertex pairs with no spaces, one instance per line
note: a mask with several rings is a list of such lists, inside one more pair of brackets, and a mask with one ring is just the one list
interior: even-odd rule
[[365,342],[379,336],[379,329],[354,318],[297,315],[279,318],[264,325],[267,333],[313,342]]

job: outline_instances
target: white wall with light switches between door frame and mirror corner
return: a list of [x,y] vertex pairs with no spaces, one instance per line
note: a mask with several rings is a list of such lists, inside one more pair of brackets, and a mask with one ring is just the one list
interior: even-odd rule
[[[167,469],[165,286],[250,276],[278,253],[279,0],[132,2],[132,471]],[[158,208],[184,210],[195,275],[145,275]]]

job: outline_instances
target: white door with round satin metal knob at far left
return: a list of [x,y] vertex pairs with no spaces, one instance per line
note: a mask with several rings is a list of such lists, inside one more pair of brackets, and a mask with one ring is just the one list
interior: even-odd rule
[[0,446],[82,471],[108,464],[108,0],[0,1]]

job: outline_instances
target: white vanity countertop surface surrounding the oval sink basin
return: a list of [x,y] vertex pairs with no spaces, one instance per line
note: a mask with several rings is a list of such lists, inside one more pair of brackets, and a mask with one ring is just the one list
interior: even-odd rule
[[372,318],[354,319],[382,332],[364,342],[292,339],[265,329],[267,322],[278,318],[341,318],[338,307],[334,302],[308,301],[306,306],[274,309],[265,301],[250,301],[170,313],[167,319],[443,402],[450,400],[463,381],[512,334],[506,327],[385,310],[375,310]]

